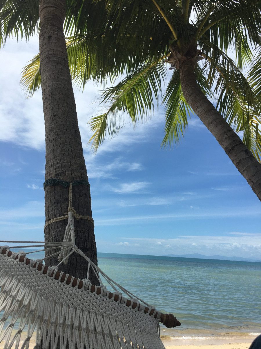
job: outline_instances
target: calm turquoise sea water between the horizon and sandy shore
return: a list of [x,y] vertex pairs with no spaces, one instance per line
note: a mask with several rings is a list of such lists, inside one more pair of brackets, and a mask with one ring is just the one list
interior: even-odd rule
[[175,335],[261,332],[261,263],[98,253],[98,266],[157,310],[173,313],[182,324]]

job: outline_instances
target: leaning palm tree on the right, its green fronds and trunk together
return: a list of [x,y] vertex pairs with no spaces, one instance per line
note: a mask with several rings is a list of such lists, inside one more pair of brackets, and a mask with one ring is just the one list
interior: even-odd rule
[[[179,142],[187,112],[194,111],[261,200],[261,1],[104,0],[95,5],[102,2],[106,20],[96,16],[98,29],[86,19],[85,4],[68,38],[71,74],[82,87],[90,78],[113,82],[126,75],[103,92],[107,109],[90,120],[94,149],[120,131],[124,112],[134,126],[148,119],[168,80],[162,145]],[[234,50],[236,62],[228,50]],[[171,65],[170,78],[165,62]],[[246,66],[252,66],[247,79]],[[29,94],[39,86],[38,68],[35,57],[24,70]]]

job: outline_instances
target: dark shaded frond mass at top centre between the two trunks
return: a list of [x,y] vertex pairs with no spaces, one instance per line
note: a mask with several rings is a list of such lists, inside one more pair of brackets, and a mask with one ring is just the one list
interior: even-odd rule
[[[176,1],[172,2],[176,8]],[[88,54],[97,56],[100,70],[118,69],[130,74],[166,54],[170,40],[173,41],[171,30],[151,0],[86,0],[79,1],[77,6],[68,8],[66,33],[85,36]],[[181,18],[174,10],[168,15],[174,29],[180,31]]]

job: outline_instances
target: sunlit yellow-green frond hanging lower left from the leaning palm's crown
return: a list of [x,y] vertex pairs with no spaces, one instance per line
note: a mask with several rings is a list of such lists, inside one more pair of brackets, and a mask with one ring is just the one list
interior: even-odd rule
[[148,63],[128,75],[116,86],[105,90],[102,102],[110,102],[107,111],[90,121],[94,132],[89,142],[92,148],[98,146],[106,137],[114,137],[124,125],[124,113],[130,116],[133,126],[137,122],[146,121],[158,101],[161,92],[161,83],[166,77],[166,68],[162,62]]

